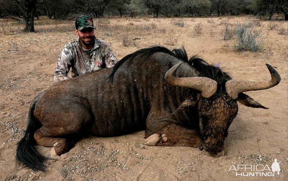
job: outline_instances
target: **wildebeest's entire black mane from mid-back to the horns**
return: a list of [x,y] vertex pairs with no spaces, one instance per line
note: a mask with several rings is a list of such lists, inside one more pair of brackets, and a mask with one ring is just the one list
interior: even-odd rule
[[200,59],[198,56],[193,56],[188,60],[188,56],[184,47],[182,47],[181,49],[174,49],[171,51],[167,49],[166,47],[162,47],[162,46],[152,46],[149,48],[143,48],[125,56],[118,63],[115,64],[115,66],[113,67],[113,71],[108,78],[111,81],[113,81],[115,72],[125,61],[128,60],[130,61],[129,63],[131,63],[131,61],[140,54],[141,54],[141,59],[145,60],[157,52],[167,53],[171,56],[174,56],[182,60],[183,62],[188,63],[191,67],[195,68],[196,71],[199,72],[200,77],[209,77],[217,81],[218,83],[224,83],[227,80],[232,79],[228,73],[223,72],[219,67],[209,65],[207,62],[205,62],[203,59]]

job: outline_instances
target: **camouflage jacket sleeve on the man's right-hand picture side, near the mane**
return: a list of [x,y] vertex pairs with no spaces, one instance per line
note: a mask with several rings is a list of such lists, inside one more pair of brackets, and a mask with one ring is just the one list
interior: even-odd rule
[[102,42],[101,50],[102,50],[101,52],[102,60],[105,60],[106,68],[113,67],[118,62],[118,60],[110,45],[105,42]]

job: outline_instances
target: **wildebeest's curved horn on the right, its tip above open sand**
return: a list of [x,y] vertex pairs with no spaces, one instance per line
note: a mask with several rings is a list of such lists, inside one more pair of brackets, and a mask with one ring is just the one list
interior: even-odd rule
[[268,89],[276,86],[281,77],[278,72],[268,63],[266,66],[271,74],[271,80],[229,80],[226,82],[226,92],[232,99],[236,99],[238,94],[246,91]]

